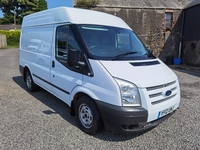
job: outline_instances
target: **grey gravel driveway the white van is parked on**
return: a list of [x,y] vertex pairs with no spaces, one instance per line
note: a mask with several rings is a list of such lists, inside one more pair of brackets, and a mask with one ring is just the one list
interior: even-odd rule
[[182,102],[170,118],[140,134],[80,131],[69,107],[40,89],[28,93],[18,49],[0,50],[0,150],[200,149],[200,71],[176,69]]

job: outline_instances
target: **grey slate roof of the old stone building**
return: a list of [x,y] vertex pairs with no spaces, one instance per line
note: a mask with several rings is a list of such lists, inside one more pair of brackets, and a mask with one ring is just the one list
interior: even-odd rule
[[[191,0],[100,0],[98,6],[127,8],[182,9]],[[198,0],[199,1],[199,0]]]

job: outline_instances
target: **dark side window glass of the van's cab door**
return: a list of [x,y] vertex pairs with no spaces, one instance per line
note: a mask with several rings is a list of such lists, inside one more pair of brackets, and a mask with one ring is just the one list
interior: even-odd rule
[[64,65],[67,63],[67,54],[69,49],[76,49],[80,51],[80,47],[78,46],[69,25],[57,27],[55,42],[56,59],[59,62],[64,63]]

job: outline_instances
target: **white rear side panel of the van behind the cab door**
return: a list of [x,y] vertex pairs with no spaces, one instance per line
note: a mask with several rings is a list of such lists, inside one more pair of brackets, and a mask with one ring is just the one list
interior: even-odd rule
[[34,82],[47,90],[51,90],[52,30],[53,25],[22,28],[20,36],[20,64],[26,64]]

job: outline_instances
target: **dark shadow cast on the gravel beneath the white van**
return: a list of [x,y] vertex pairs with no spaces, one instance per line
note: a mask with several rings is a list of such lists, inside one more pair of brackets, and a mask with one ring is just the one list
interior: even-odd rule
[[[28,92],[22,76],[16,76],[16,77],[13,77],[12,79],[23,90]],[[38,88],[37,92],[32,92],[32,93],[28,92],[28,93],[50,108],[48,110],[44,110],[43,113],[45,113],[46,115],[59,114],[63,119],[65,119],[70,124],[78,128],[75,117],[70,115],[70,108],[67,104],[65,104],[64,102],[62,102],[61,100],[59,100],[58,98],[56,98],[55,96],[53,96],[52,94],[50,94],[49,92],[45,91],[42,88]],[[94,138],[98,138],[104,141],[119,142],[119,141],[126,141],[126,140],[136,138],[148,131],[149,130],[140,132],[137,134],[117,134],[117,133],[111,133],[102,129],[101,131],[99,131],[98,133],[92,136]],[[82,131],[80,130],[79,132],[82,132]]]

